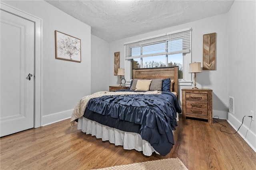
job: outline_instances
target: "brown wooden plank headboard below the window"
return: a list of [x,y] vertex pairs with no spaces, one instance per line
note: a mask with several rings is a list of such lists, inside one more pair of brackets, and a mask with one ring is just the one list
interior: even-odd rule
[[178,66],[132,69],[132,78],[137,78],[137,79],[170,78],[171,80],[174,80],[174,92],[176,92],[178,95],[178,92],[179,92]]

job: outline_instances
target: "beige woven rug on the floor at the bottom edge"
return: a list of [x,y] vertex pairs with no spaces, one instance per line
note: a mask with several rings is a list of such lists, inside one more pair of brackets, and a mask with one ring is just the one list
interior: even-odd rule
[[179,158],[169,158],[135,164],[111,166],[97,170],[188,170]]

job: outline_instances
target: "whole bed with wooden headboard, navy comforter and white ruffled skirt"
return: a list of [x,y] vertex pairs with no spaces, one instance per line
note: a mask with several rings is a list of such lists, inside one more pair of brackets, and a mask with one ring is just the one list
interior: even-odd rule
[[[142,151],[146,156],[153,152],[165,156],[174,145],[173,130],[177,113],[181,113],[177,100],[178,66],[134,69],[132,78],[130,90],[97,92],[82,98],[73,111],[71,124],[77,121],[77,129],[82,132],[124,149]],[[158,88],[153,84],[159,79],[162,88],[155,90]],[[166,80],[170,85],[162,91]]]

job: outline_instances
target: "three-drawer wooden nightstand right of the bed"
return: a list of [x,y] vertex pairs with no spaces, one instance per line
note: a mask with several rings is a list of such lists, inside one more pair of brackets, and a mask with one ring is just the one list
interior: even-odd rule
[[212,90],[206,88],[182,89],[182,118],[207,119],[212,123]]

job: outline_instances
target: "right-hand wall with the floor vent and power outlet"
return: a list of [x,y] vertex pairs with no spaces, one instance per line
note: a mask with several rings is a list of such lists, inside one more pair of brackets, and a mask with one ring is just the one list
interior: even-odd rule
[[[228,12],[228,96],[234,97],[235,106],[228,122],[235,129],[245,115],[256,112],[255,11],[255,1],[235,0]],[[238,133],[256,151],[256,117],[254,120],[245,117]]]

